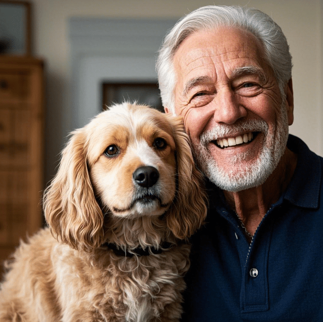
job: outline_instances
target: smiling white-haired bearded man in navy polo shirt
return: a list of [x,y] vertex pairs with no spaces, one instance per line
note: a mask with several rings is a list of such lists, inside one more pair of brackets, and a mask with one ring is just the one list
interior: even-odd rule
[[288,135],[281,29],[255,9],[202,7],[165,37],[157,69],[210,200],[183,321],[323,321],[323,159]]

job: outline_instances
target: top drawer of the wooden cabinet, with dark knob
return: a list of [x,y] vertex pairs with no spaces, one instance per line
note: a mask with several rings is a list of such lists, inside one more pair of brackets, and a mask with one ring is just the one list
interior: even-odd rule
[[27,73],[0,70],[0,100],[22,100],[27,96]]

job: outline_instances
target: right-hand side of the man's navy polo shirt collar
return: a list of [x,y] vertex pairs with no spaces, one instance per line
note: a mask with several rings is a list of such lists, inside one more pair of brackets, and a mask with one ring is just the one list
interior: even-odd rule
[[299,138],[290,135],[287,147],[297,154],[297,165],[284,199],[305,208],[318,208],[322,180],[321,158]]

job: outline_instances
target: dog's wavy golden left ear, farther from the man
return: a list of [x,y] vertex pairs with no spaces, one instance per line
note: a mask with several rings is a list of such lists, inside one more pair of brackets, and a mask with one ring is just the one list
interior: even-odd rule
[[103,215],[90,181],[85,134],[72,133],[57,175],[44,194],[44,213],[51,232],[74,249],[91,251],[103,237]]

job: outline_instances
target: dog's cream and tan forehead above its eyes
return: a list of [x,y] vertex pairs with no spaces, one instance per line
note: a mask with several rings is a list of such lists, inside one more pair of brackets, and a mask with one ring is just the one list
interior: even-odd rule
[[91,121],[85,131],[90,164],[96,162],[111,144],[128,146],[140,140],[148,142],[152,138],[172,136],[172,127],[167,119],[161,113],[146,111],[145,108],[126,112],[102,112]]

